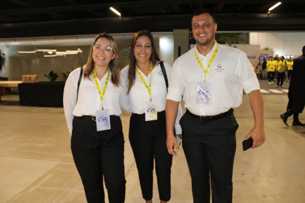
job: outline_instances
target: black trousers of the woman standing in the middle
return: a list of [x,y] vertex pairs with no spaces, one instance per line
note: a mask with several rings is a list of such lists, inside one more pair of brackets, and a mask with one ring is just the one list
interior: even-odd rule
[[145,114],[132,114],[130,117],[129,141],[138,168],[143,198],[152,199],[153,159],[160,200],[170,200],[170,168],[173,156],[166,147],[165,111],[158,112],[158,120],[145,121]]

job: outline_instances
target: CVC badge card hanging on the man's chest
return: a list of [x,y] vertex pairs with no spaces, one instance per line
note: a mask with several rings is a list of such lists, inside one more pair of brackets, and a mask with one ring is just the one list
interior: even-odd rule
[[198,82],[196,86],[196,103],[210,104],[211,101],[211,86],[210,82]]

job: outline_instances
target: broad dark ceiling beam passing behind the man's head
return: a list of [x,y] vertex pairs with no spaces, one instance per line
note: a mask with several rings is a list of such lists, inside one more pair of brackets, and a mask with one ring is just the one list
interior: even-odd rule
[[[58,35],[108,33],[135,33],[138,30],[152,32],[191,29],[192,15],[141,16],[99,19],[74,19],[34,23],[0,24],[0,38],[39,37]],[[305,13],[249,13],[237,15],[216,14],[218,31],[303,31]]]

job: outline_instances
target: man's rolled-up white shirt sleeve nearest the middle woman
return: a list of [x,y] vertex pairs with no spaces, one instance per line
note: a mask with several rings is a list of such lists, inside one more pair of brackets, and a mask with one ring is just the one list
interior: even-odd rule
[[179,62],[177,62],[176,60],[173,64],[170,73],[168,93],[166,97],[167,100],[181,102],[182,95],[184,93],[184,87],[181,83],[180,72],[181,71],[179,70]]

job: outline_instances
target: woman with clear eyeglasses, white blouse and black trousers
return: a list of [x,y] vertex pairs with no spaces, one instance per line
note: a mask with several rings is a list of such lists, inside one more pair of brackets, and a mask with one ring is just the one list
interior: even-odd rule
[[101,33],[87,63],[70,73],[63,93],[73,159],[88,202],[105,202],[103,176],[109,202],[125,200],[121,89],[117,45]]

